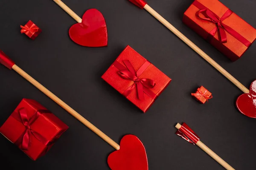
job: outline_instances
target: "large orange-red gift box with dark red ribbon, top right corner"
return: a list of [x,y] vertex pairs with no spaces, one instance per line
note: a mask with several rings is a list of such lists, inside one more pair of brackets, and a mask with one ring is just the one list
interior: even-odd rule
[[183,22],[232,61],[256,39],[256,29],[218,0],[195,0],[184,13]]

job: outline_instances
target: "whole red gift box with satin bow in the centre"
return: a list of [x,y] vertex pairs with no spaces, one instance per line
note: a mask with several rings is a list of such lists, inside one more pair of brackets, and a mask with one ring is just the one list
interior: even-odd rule
[[171,82],[169,77],[129,45],[103,74],[102,79],[144,113]]

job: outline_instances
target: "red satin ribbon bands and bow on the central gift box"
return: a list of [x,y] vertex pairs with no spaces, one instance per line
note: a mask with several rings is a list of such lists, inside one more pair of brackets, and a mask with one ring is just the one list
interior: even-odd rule
[[134,81],[134,84],[131,85],[124,93],[123,95],[125,97],[127,97],[131,91],[135,88],[135,86],[137,87],[137,94],[138,94],[138,98],[140,100],[144,100],[144,92],[145,94],[147,94],[148,96],[150,96],[152,99],[155,99],[157,97],[156,94],[154,94],[151,90],[149,90],[150,88],[154,88],[154,86],[156,85],[156,83],[154,82],[154,80],[151,79],[140,79],[138,77],[140,77],[140,75],[145,71],[146,68],[148,68],[148,66],[150,65],[149,61],[146,61],[136,72],[134,67],[131,65],[131,62],[129,60],[124,60],[123,61],[125,66],[123,66],[121,63],[119,63],[118,61],[115,61],[113,63],[113,65],[119,69],[119,71],[117,72],[117,74],[119,74],[120,77],[122,77],[123,79],[128,79],[131,81]]

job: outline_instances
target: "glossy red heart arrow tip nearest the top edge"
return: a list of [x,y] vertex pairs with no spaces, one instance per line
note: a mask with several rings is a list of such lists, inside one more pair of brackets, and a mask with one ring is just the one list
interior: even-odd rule
[[79,45],[102,47],[108,45],[108,31],[105,19],[97,9],[87,10],[81,23],[70,27],[70,38]]

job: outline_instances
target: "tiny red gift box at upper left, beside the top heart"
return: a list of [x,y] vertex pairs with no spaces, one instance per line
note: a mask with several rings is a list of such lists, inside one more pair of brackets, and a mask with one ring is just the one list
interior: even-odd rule
[[29,20],[25,26],[20,26],[20,28],[20,33],[26,34],[32,40],[35,40],[35,38],[42,32],[42,30],[38,28],[38,26],[36,26],[31,20]]

